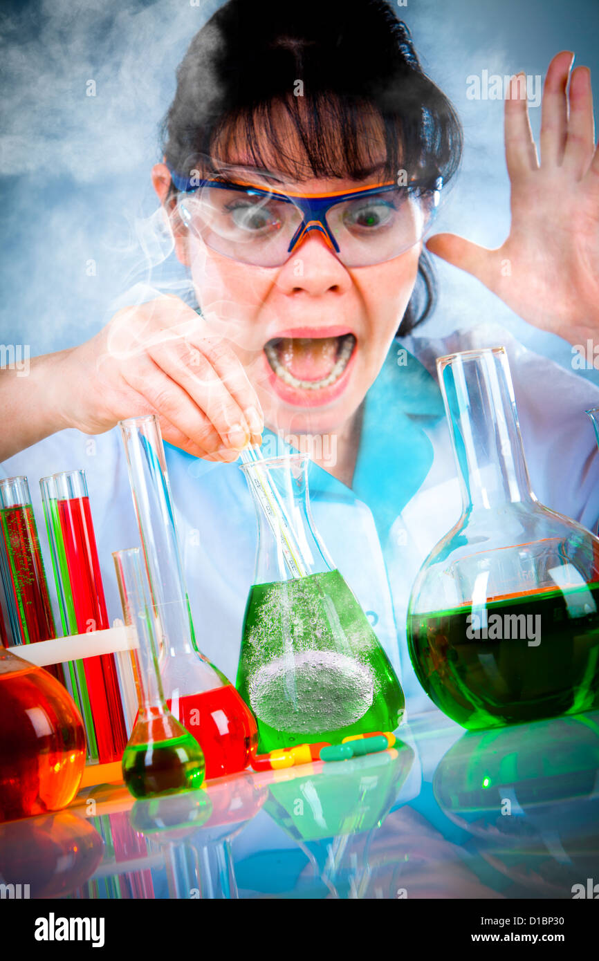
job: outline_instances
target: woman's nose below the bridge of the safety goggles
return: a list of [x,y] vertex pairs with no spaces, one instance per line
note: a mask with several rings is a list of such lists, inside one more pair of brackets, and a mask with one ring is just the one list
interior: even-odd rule
[[329,291],[344,293],[351,283],[329,237],[318,229],[305,231],[277,278],[277,286],[283,293],[304,292],[312,297]]

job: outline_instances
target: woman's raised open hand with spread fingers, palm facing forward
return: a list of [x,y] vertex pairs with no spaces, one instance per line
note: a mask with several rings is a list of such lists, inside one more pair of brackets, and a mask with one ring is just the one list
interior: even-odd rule
[[529,324],[577,344],[599,342],[599,147],[590,71],[580,66],[570,76],[573,60],[562,51],[547,70],[540,162],[526,78],[512,78],[505,108],[512,226],[501,247],[489,250],[456,234],[436,234],[427,246]]

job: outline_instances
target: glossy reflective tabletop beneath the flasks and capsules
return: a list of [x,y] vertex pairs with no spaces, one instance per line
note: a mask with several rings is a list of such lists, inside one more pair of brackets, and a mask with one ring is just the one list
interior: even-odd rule
[[572,899],[599,878],[599,712],[467,732],[431,711],[397,734],[158,800],[86,788],[0,825],[1,880],[31,898]]

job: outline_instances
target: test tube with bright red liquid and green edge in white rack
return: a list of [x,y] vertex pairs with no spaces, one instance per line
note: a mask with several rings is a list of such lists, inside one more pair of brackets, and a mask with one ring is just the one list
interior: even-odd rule
[[[86,473],[65,471],[39,484],[64,633],[110,628]],[[127,732],[114,655],[85,657],[69,669],[86,719],[90,758],[120,760]]]

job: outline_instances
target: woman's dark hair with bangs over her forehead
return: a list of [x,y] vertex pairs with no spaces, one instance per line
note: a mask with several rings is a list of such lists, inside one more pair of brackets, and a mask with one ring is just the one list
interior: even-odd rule
[[[295,96],[301,81],[301,96]],[[303,152],[288,148],[287,124]],[[278,111],[278,112],[277,112]],[[162,123],[167,163],[189,176],[215,147],[228,160],[234,137],[262,169],[296,180],[360,180],[372,123],[385,139],[385,175],[405,169],[433,189],[462,156],[462,127],[447,97],[423,72],[408,27],[385,0],[228,0],[193,37],[177,70]],[[260,132],[262,131],[262,137]],[[263,135],[266,136],[263,136]],[[174,191],[174,187],[171,188]],[[435,280],[425,253],[398,333],[431,312]]]

